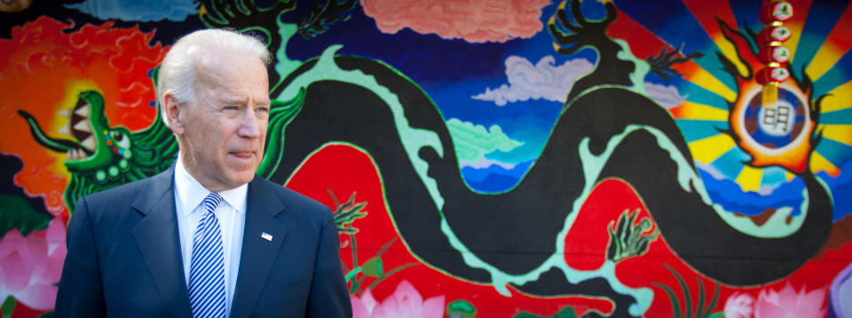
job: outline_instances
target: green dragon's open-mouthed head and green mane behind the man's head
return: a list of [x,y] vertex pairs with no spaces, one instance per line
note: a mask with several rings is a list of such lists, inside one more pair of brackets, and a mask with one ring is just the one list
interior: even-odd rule
[[[152,74],[156,79],[156,70]],[[268,178],[278,167],[284,128],[301,109],[303,99],[304,92],[288,101],[272,100],[267,149],[257,169],[258,175]],[[65,189],[65,203],[69,212],[74,211],[79,198],[156,175],[169,168],[177,158],[177,139],[162,122],[159,105],[154,122],[138,131],[110,126],[104,109],[103,95],[96,90],[83,90],[77,95],[73,108],[60,110],[59,115],[70,122],[58,132],[72,136],[73,140],[48,136],[36,118],[26,111],[18,111],[27,120],[37,143],[48,150],[67,153],[65,167],[71,178]]]

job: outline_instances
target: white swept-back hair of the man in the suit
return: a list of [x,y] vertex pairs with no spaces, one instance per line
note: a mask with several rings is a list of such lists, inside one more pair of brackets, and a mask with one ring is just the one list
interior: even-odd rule
[[228,51],[238,55],[254,55],[269,66],[271,56],[266,45],[256,37],[242,35],[229,29],[204,29],[184,35],[162,59],[157,75],[157,102],[160,104],[162,121],[170,122],[166,116],[165,96],[169,94],[177,103],[195,103],[195,80],[199,62],[214,52]]

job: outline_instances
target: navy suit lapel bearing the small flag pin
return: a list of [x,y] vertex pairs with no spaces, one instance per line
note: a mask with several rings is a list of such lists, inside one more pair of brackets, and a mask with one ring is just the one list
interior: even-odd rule
[[251,313],[287,234],[284,226],[275,219],[275,215],[284,210],[284,205],[261,176],[256,175],[248,183],[246,199],[240,273],[237,275],[231,317],[248,317]]

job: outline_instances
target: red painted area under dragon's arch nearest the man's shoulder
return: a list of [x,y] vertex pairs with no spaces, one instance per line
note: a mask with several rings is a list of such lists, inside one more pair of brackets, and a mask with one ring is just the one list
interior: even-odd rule
[[[403,279],[420,291],[423,299],[444,296],[446,304],[466,299],[477,307],[477,317],[509,317],[521,311],[534,314],[556,314],[564,306],[572,306],[578,314],[588,309],[610,313],[611,303],[605,299],[565,297],[546,299],[528,296],[509,289],[510,297],[498,293],[493,286],[467,282],[442,273],[437,268],[417,260],[406,248],[402,238],[393,226],[387,206],[384,205],[383,187],[372,160],[362,151],[346,145],[328,145],[315,153],[287,183],[287,187],[304,195],[315,198],[335,209],[334,201],[328,195],[331,189],[338,200],[349,198],[356,193],[356,202],[367,202],[364,210],[367,217],[352,222],[359,232],[355,234],[358,247],[358,262],[362,265],[374,257],[383,244],[396,239],[390,248],[383,252],[382,262],[385,272],[412,264],[376,283],[372,289],[375,299],[381,301],[395,291]],[[341,235],[340,255],[347,268],[352,268],[351,237]],[[362,287],[375,283],[375,277],[368,277]],[[351,283],[350,283],[351,286]],[[358,292],[358,295],[361,291]]]

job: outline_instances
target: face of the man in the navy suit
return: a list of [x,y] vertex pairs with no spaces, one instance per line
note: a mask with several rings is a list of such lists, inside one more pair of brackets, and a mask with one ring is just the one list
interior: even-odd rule
[[195,103],[179,105],[181,157],[208,190],[250,182],[264,158],[270,99],[259,58],[220,54],[196,73]]

